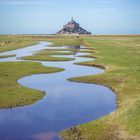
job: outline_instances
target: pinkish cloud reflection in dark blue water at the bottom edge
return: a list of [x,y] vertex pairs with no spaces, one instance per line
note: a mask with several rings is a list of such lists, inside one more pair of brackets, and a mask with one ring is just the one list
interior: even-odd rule
[[57,134],[55,132],[47,132],[47,133],[40,133],[35,134],[32,136],[34,140],[53,140]]

